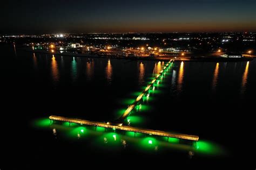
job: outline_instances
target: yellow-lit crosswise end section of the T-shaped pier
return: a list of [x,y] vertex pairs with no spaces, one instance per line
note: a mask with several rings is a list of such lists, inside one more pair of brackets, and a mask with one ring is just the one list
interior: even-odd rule
[[145,134],[151,134],[155,136],[171,137],[171,138],[178,138],[178,139],[185,139],[185,140],[192,140],[192,141],[199,140],[199,137],[194,135],[171,133],[171,132],[165,132],[165,131],[159,131],[159,130],[142,129],[142,128],[135,128],[131,126],[123,126],[122,123],[119,125],[111,125],[109,123],[93,122],[93,121],[86,121],[83,119],[67,118],[67,117],[60,117],[60,116],[50,116],[49,119],[51,121],[62,121],[62,122],[98,126],[98,127],[110,128],[110,129],[119,129],[123,131],[145,133]]

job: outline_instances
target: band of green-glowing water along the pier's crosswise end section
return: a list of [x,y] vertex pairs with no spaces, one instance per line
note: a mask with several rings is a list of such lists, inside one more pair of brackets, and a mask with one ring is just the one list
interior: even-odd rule
[[[47,123],[46,123],[47,122]],[[108,150],[113,148],[115,150],[122,150],[129,148],[130,150],[146,151],[146,152],[172,152],[180,151],[186,153],[193,152],[199,155],[225,155],[226,152],[221,146],[205,140],[199,140],[195,145],[187,145],[177,143],[176,140],[166,137],[149,136],[145,134],[134,135],[124,133],[123,131],[114,132],[112,129],[104,129],[97,131],[93,126],[65,126],[60,124],[50,124],[49,119],[38,119],[33,124],[35,128],[49,129],[54,139],[61,138],[64,141],[68,140],[91,140],[94,147],[101,147]],[[58,132],[58,133],[57,133]],[[173,138],[174,139],[174,138]],[[76,145],[79,145],[77,143]],[[82,144],[83,145],[83,144]]]

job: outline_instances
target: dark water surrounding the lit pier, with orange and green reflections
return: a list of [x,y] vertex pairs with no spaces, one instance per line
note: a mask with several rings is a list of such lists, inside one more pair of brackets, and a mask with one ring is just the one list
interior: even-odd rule
[[134,137],[132,132],[50,125],[47,119],[117,119],[164,62],[33,54],[8,45],[0,49],[2,131],[7,139],[3,146],[9,148],[5,162],[17,163],[6,167],[112,167],[133,162],[168,167],[170,160],[186,165],[253,165],[256,60],[174,62],[124,122],[198,135],[194,147],[176,139]]

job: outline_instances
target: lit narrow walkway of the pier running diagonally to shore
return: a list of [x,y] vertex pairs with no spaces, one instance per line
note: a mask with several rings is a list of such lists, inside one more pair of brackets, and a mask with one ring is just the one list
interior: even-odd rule
[[130,112],[136,107],[137,103],[142,100],[142,97],[149,91],[149,89],[153,86],[154,82],[157,81],[157,79],[163,74],[164,70],[170,65],[171,62],[173,62],[174,59],[171,59],[163,69],[161,69],[160,73],[157,74],[157,76],[150,82],[149,85],[144,89],[144,91],[136,98],[136,100],[125,110],[124,114],[117,119],[116,122],[123,122],[124,119],[130,114]]

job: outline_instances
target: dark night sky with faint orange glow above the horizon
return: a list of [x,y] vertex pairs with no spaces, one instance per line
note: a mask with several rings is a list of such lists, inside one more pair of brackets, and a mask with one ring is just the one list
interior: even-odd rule
[[1,3],[4,34],[256,31],[255,0]]

